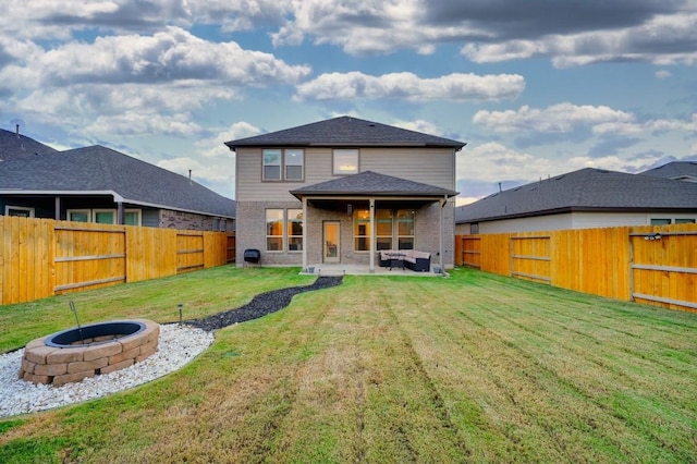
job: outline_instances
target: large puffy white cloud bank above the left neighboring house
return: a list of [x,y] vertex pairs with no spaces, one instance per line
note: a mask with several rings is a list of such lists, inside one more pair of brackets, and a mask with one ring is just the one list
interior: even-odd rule
[[85,83],[216,82],[232,86],[295,83],[306,65],[289,65],[236,42],[215,44],[168,27],[152,36],[98,37],[34,53],[0,71],[3,85],[69,86]]

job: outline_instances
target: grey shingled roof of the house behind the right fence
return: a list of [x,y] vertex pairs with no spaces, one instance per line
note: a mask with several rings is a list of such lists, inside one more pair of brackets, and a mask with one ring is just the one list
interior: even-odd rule
[[455,222],[570,211],[697,210],[697,184],[586,168],[457,207]]

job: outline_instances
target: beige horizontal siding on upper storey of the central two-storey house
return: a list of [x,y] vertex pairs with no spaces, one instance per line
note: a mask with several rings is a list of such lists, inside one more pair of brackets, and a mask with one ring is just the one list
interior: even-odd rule
[[[455,156],[449,148],[364,148],[360,171],[455,190]],[[337,179],[331,148],[305,148],[304,182],[262,182],[260,148],[237,149],[235,174],[237,202],[293,202],[289,191]]]

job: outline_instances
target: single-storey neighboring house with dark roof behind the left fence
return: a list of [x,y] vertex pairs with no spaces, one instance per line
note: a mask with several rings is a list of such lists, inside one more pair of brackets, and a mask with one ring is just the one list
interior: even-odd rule
[[[0,158],[7,152],[0,147]],[[0,162],[0,215],[233,231],[235,203],[183,175],[96,145]]]

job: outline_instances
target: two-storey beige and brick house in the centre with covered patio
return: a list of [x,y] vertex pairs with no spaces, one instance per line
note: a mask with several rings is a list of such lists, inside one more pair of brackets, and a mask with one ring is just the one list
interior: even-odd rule
[[379,249],[453,266],[455,154],[465,144],[341,117],[225,143],[236,152],[236,261],[362,265]]

